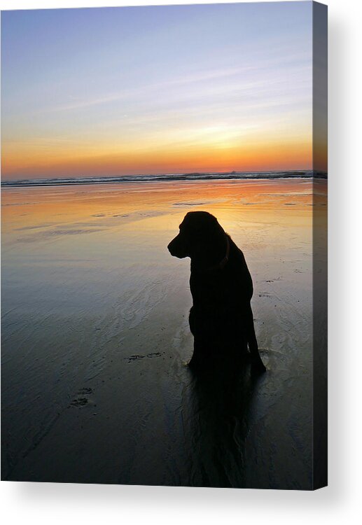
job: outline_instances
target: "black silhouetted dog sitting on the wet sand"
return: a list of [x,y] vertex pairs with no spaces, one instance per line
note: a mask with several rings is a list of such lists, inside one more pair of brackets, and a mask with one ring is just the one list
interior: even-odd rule
[[[167,246],[174,257],[191,259],[190,367],[236,365],[249,358],[265,372],[256,340],[251,296],[253,281],[244,254],[207,211],[190,211]],[[249,348],[249,351],[248,351]]]

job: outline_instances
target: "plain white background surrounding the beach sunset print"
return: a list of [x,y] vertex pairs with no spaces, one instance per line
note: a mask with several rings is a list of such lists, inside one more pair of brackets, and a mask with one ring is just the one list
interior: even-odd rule
[[[2,0],[1,9],[152,5]],[[172,3],[190,3],[174,0]],[[197,3],[210,3],[199,0]],[[2,482],[6,524],[355,524],[361,519],[361,2],[329,6],[329,486],[316,492]],[[358,337],[359,336],[359,337]],[[238,521],[235,521],[238,520]],[[241,522],[241,521],[240,521]]]

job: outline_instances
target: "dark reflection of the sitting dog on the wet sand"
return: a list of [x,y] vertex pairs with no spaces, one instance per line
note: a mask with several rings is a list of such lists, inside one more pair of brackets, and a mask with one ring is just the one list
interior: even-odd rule
[[244,486],[244,444],[249,432],[249,408],[260,376],[250,365],[214,370],[193,377],[188,399],[183,399],[188,426],[192,486]]

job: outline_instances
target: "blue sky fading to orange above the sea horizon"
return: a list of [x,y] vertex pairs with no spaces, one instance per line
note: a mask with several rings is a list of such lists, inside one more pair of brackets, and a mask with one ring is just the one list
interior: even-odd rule
[[310,169],[312,3],[3,11],[1,153],[14,180]]

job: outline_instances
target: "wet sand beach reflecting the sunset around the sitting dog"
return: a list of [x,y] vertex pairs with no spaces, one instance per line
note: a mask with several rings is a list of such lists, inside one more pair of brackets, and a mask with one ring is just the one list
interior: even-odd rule
[[[321,186],[325,182],[320,182]],[[2,479],[312,487],[312,183],[2,191]],[[253,276],[262,377],[195,377],[190,262],[216,215]]]

